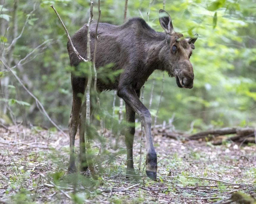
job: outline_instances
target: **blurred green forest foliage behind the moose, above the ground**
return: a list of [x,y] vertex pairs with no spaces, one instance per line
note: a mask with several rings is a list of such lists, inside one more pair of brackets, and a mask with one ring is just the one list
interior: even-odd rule
[[[139,16],[147,22],[149,2],[128,0],[127,18]],[[50,5],[54,4],[72,35],[88,22],[90,2],[1,0],[0,4],[1,59],[13,67],[49,116],[60,126],[67,127],[72,106],[67,37]],[[102,0],[100,22],[121,25],[124,4],[125,0]],[[97,6],[95,1],[93,22],[98,18]],[[163,29],[158,11],[162,8],[163,1],[154,0],[149,13],[149,25],[160,32]],[[192,127],[193,132],[213,127],[255,126],[256,1],[166,0],[165,10],[171,15],[175,31],[184,36],[198,33],[199,38],[190,58],[195,74],[194,87],[180,89],[175,78],[165,74],[157,124],[164,120],[168,123],[175,114],[175,128],[189,130]],[[155,71],[145,83],[144,104],[147,107],[154,77],[150,109],[153,118],[160,100],[163,73]],[[2,124],[22,121],[24,124],[51,126],[35,100],[1,61],[0,80]],[[113,91],[100,95],[101,106],[109,115],[112,114],[113,95]],[[118,118],[118,99],[115,106],[115,117]]]

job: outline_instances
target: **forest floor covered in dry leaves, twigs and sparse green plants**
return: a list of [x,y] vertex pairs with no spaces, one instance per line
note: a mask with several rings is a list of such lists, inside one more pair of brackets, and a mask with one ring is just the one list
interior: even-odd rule
[[[135,133],[134,164],[138,168],[140,131]],[[179,141],[154,135],[157,181],[145,176],[125,179],[126,148],[110,147],[105,133],[99,154],[103,173],[67,175],[69,138],[38,127],[0,128],[0,203],[231,203],[234,192],[256,196],[256,145]],[[146,157],[143,139],[142,168]],[[79,146],[76,138],[76,146]],[[113,141],[114,143],[114,141]],[[91,144],[97,157],[100,144]],[[76,149],[78,151],[78,149]],[[138,169],[136,171],[138,172]],[[96,167],[99,171],[99,168]],[[233,202],[234,203],[234,202]]]

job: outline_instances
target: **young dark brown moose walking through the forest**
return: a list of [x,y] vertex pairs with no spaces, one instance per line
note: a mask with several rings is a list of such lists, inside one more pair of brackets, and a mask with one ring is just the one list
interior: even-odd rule
[[[135,175],[133,166],[133,139],[135,133],[135,113],[142,120],[147,140],[146,174],[149,178],[156,180],[157,176],[157,154],[155,152],[152,135],[152,118],[149,110],[141,103],[140,89],[148,77],[156,69],[167,71],[169,76],[175,76],[178,87],[193,87],[193,66],[189,61],[192,49],[195,48],[194,38],[184,38],[181,33],[174,31],[170,15],[159,11],[159,22],[165,33],[156,32],[141,18],[132,18],[121,26],[99,23],[98,49],[96,53],[96,68],[112,64],[112,70],[122,69],[121,74],[115,77],[114,82],[97,80],[99,92],[104,90],[117,90],[117,95],[124,99],[126,109],[126,120],[132,123],[125,135],[127,146],[127,174]],[[91,25],[91,57],[95,46],[96,24]],[[74,47],[83,58],[87,58],[87,28],[83,26],[72,37]],[[70,43],[67,43],[71,66],[77,67],[81,62],[74,53]],[[83,62],[82,62],[83,63]],[[84,124],[79,121],[81,109],[81,94],[85,93],[87,84],[86,77],[75,76],[71,73],[73,90],[73,106],[69,120],[70,136],[70,162],[68,171],[75,172],[74,140],[79,125],[80,135],[80,162],[86,164]],[[82,107],[82,109],[85,107]],[[87,169],[81,165],[82,171]]]

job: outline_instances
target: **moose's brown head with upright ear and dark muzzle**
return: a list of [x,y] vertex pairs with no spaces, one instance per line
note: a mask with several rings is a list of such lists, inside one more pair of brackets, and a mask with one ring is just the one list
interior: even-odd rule
[[166,32],[166,43],[170,47],[169,66],[166,71],[170,76],[176,77],[176,83],[180,88],[193,88],[193,66],[189,61],[194,43],[198,38],[195,34],[193,38],[184,38],[181,33],[175,32],[170,15],[163,9],[159,10],[159,22]]

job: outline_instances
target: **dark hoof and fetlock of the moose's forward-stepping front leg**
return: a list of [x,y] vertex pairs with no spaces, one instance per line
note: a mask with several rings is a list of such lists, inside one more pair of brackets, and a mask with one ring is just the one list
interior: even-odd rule
[[157,179],[157,154],[155,151],[147,153],[146,174],[153,181]]

